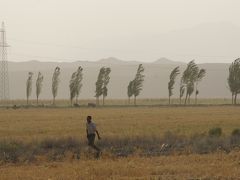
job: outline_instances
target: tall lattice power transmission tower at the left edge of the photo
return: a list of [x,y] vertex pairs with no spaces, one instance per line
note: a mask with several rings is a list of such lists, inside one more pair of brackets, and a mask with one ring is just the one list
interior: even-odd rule
[[8,100],[9,97],[9,79],[8,79],[8,61],[6,31],[4,22],[0,28],[0,100]]

